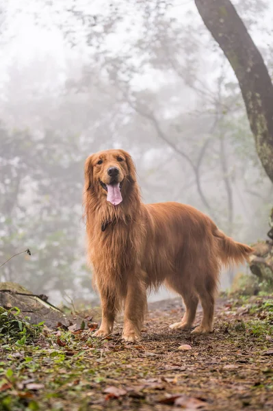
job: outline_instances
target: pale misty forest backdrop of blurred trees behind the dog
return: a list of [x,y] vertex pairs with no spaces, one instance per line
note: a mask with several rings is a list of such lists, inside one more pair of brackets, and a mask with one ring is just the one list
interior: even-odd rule
[[[272,77],[273,4],[233,4]],[[131,153],[144,202],[191,204],[242,242],[265,236],[273,186],[194,1],[1,0],[0,34],[0,264],[32,254],[1,281],[55,303],[94,299],[83,164],[101,149]]]

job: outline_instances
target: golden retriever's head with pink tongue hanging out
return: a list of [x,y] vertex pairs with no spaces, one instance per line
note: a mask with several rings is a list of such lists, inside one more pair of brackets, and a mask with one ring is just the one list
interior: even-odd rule
[[135,166],[124,150],[99,151],[88,157],[85,166],[85,190],[104,195],[113,206],[122,202],[129,184],[135,183]]

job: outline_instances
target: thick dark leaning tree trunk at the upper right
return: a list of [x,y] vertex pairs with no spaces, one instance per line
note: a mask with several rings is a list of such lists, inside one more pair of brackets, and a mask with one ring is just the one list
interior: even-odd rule
[[195,0],[195,3],[235,72],[257,153],[273,182],[273,85],[261,53],[231,1]]

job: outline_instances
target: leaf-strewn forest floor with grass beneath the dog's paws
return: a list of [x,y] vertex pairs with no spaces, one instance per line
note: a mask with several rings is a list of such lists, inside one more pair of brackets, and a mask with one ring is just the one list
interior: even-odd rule
[[169,329],[182,311],[180,299],[152,303],[135,344],[121,322],[105,340],[91,325],[3,343],[0,409],[272,410],[273,297],[218,299],[207,336]]

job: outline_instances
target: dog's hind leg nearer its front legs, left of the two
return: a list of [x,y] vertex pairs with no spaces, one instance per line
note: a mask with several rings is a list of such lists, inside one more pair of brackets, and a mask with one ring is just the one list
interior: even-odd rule
[[198,296],[193,287],[186,284],[182,284],[181,276],[177,275],[175,278],[168,279],[166,281],[166,286],[172,288],[175,292],[181,295],[185,303],[185,314],[183,319],[179,323],[173,323],[170,325],[172,329],[190,329],[194,323],[196,316],[196,309],[198,306]]

